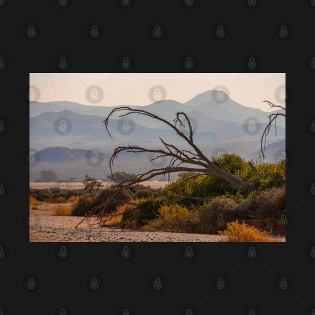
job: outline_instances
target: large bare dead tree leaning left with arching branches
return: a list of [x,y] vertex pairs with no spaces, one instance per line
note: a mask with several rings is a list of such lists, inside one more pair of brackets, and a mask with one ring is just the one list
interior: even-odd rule
[[[133,153],[139,153],[139,152],[145,152],[145,153],[154,153],[155,157],[151,158],[151,161],[154,161],[156,158],[159,157],[169,157],[170,161],[169,164],[166,167],[161,167],[161,168],[153,168],[150,169],[144,173],[137,174],[135,175],[134,178],[128,179],[121,181],[117,185],[114,185],[111,190],[108,192],[108,197],[104,201],[103,204],[92,208],[85,216],[90,217],[97,213],[96,218],[97,218],[97,223],[101,225],[105,225],[105,223],[110,220],[111,214],[106,213],[106,204],[110,200],[114,200],[115,195],[119,189],[128,189],[130,185],[140,183],[145,180],[149,180],[157,175],[168,175],[168,180],[169,180],[169,174],[173,172],[193,172],[193,175],[190,176],[189,178],[193,178],[195,176],[200,176],[200,175],[214,175],[219,178],[224,179],[227,181],[232,189],[244,189],[247,186],[249,186],[249,183],[242,180],[239,177],[234,176],[233,174],[224,171],[217,166],[215,166],[198,148],[198,146],[194,143],[193,140],[193,131],[192,131],[192,126],[191,122],[187,116],[186,113],[184,112],[177,112],[176,117],[172,120],[172,122],[169,122],[153,113],[150,113],[146,110],[142,109],[134,109],[130,108],[128,106],[121,106],[117,107],[111,110],[111,112],[108,114],[106,119],[103,121],[105,130],[109,134],[109,136],[112,138],[111,133],[108,129],[108,121],[111,115],[115,112],[119,111],[125,111],[125,113],[122,113],[119,115],[119,117],[125,117],[130,114],[140,114],[144,115],[149,118],[153,118],[159,121],[162,121],[166,125],[168,125],[171,129],[176,132],[176,134],[181,137],[188,145],[189,149],[180,149],[177,146],[175,146],[172,143],[167,143],[164,141],[161,137],[159,137],[162,148],[161,149],[150,149],[150,148],[145,148],[145,147],[139,147],[135,145],[128,145],[128,146],[118,146],[114,149],[114,152],[112,156],[110,157],[109,160],[109,168],[110,168],[110,173],[112,174],[112,165],[114,162],[114,159],[117,158],[118,154],[122,151],[127,151],[127,152],[133,152]],[[186,119],[187,125],[188,125],[188,133],[189,135],[184,134],[178,127],[184,126],[183,121],[181,120],[182,117]],[[197,174],[196,174],[197,173]],[[130,205],[126,211],[130,211],[135,207],[135,205]],[[120,213],[121,214],[121,213]],[[113,214],[115,215],[115,214]],[[84,219],[85,219],[84,218]],[[84,220],[83,219],[83,220]],[[115,223],[113,225],[106,225],[106,226],[117,226],[123,224],[124,222]],[[79,223],[80,224],[80,223]]]

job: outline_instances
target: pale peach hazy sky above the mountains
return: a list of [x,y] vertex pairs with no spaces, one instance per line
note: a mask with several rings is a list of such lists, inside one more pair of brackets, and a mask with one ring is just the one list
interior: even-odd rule
[[[245,106],[269,110],[267,99],[285,86],[285,73],[30,73],[29,84],[40,91],[39,101],[68,100],[85,105],[147,105],[149,90],[163,86],[166,99],[185,102],[198,93],[224,86],[229,97]],[[103,98],[91,103],[86,90],[99,86]]]

